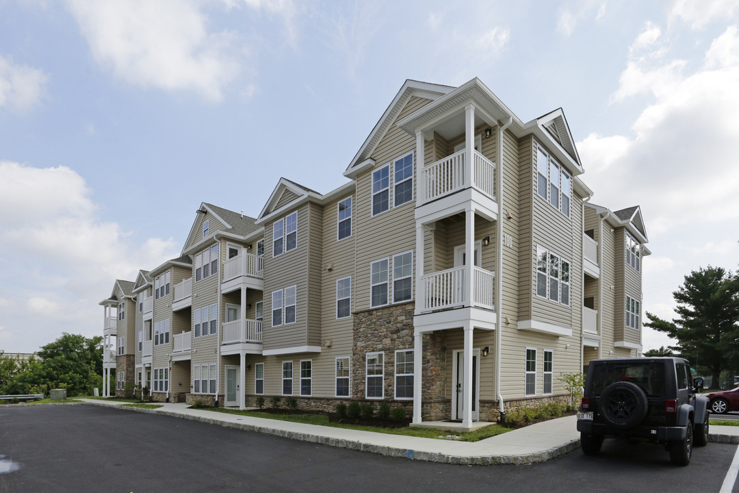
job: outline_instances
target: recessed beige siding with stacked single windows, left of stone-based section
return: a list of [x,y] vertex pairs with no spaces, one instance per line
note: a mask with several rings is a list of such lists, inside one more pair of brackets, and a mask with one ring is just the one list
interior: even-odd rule
[[[348,196],[347,196],[348,197]],[[352,200],[352,236],[337,240],[338,202],[347,197],[328,203],[323,208],[323,271],[319,290],[321,306],[321,339],[323,347],[320,355],[313,355],[313,396],[333,398],[335,388],[336,358],[351,356],[353,347],[354,317],[336,319],[336,281],[344,277],[352,278],[352,310],[355,310],[354,254],[356,239],[355,197]],[[331,268],[329,271],[328,268]],[[330,346],[327,343],[330,341]]]

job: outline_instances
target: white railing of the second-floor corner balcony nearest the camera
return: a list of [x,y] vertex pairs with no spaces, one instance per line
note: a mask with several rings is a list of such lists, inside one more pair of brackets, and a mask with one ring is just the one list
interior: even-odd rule
[[472,296],[465,293],[465,267],[455,267],[420,278],[417,313],[428,313],[463,306],[495,310],[493,294],[495,273],[472,268]]

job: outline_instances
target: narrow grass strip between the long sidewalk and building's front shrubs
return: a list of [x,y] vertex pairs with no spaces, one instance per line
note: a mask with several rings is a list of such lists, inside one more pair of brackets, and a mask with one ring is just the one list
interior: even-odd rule
[[405,435],[409,437],[421,437],[421,438],[436,438],[441,440],[458,440],[476,442],[483,440],[483,438],[494,437],[501,433],[511,431],[510,428],[505,428],[497,424],[491,424],[484,428],[475,430],[474,432],[461,433],[461,432],[449,432],[441,429],[429,429],[429,428],[381,428],[378,426],[359,426],[345,423],[332,423],[328,421],[328,416],[323,414],[294,414],[294,415],[279,415],[271,414],[269,412],[259,411],[241,411],[239,409],[225,409],[218,407],[216,409],[208,409],[209,411],[225,412],[226,414],[235,414],[242,416],[252,416],[254,418],[267,418],[276,419],[279,421],[293,421],[295,423],[305,424],[318,424],[320,426],[332,426],[334,428],[346,428],[346,429],[361,429],[365,432],[375,433],[387,433],[389,435]]

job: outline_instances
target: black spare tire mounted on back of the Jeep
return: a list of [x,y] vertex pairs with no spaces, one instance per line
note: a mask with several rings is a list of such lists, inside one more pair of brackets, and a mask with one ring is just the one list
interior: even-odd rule
[[601,394],[600,412],[603,419],[620,429],[633,428],[647,417],[647,394],[637,384],[617,381]]

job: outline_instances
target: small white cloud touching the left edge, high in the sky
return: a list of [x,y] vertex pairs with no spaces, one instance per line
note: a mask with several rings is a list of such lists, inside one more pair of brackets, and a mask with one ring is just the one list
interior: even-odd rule
[[47,78],[43,70],[13,64],[0,56],[0,109],[24,112],[33,108],[44,95]]

